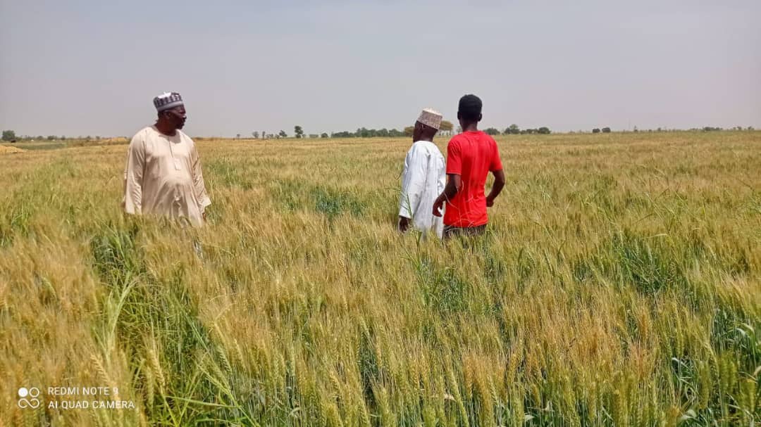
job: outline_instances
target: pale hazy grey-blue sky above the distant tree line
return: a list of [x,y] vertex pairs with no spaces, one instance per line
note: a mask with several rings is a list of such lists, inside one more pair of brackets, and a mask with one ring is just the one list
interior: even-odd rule
[[191,135],[403,128],[761,128],[761,2],[0,0],[0,128]]

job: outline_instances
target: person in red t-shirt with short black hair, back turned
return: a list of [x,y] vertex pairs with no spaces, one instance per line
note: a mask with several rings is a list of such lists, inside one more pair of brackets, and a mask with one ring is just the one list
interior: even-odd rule
[[[444,201],[444,239],[457,234],[477,235],[484,232],[489,217],[486,207],[492,207],[502,187],[505,172],[499,160],[494,138],[478,130],[482,103],[476,95],[460,98],[457,120],[463,133],[455,135],[447,144],[447,186],[433,205],[433,214],[441,217]],[[494,185],[484,197],[486,176],[494,174]]]

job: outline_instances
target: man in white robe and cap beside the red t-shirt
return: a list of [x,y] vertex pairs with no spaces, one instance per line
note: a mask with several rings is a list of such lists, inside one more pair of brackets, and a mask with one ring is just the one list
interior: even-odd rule
[[412,226],[420,231],[431,230],[441,238],[444,223],[432,213],[433,203],[446,185],[446,163],[433,137],[441,127],[441,113],[424,109],[412,132],[412,147],[407,152],[402,173],[402,195],[399,207],[399,229]]

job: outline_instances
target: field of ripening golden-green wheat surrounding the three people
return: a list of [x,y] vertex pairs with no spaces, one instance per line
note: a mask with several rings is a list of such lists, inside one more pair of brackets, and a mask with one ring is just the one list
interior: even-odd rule
[[498,143],[446,245],[406,139],[199,141],[200,229],[121,213],[124,144],[0,154],[0,425],[761,422],[761,132]]

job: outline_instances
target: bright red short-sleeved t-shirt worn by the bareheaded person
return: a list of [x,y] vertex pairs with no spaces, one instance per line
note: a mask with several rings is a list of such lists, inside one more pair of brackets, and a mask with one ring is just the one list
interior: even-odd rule
[[494,138],[482,131],[455,135],[447,145],[447,174],[462,179],[462,187],[444,211],[444,225],[456,227],[482,226],[486,216],[486,195],[483,188],[489,172],[502,169]]

